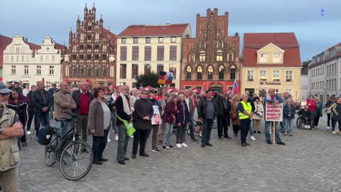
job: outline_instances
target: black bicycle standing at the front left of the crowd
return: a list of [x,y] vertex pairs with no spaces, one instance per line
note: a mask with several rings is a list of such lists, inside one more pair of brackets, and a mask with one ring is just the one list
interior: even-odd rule
[[[84,117],[70,115],[72,115],[72,119],[75,119],[75,127],[68,130],[63,137],[63,129],[70,122],[67,122],[66,119],[57,119],[63,129],[50,127],[53,129],[53,134],[51,134],[50,144],[45,146],[45,164],[53,166],[56,161],[59,161],[63,176],[67,180],[77,181],[89,173],[92,161],[94,161],[94,154],[91,146],[87,142],[80,141],[80,136],[77,134],[77,122]],[[70,167],[68,168],[68,166]]]

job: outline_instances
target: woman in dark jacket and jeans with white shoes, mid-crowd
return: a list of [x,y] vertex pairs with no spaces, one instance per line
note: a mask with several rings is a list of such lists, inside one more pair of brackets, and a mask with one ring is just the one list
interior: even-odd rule
[[190,112],[188,112],[188,107],[185,102],[185,95],[178,95],[178,102],[176,102],[178,107],[178,114],[175,117],[176,123],[176,144],[175,146],[181,148],[181,146],[188,146],[185,144],[185,133],[187,126],[190,125]]

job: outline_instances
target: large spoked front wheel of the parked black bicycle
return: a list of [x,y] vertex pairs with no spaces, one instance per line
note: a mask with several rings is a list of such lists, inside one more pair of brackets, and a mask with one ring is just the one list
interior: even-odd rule
[[94,161],[94,154],[87,142],[69,142],[60,155],[60,171],[63,176],[71,181],[85,177]]

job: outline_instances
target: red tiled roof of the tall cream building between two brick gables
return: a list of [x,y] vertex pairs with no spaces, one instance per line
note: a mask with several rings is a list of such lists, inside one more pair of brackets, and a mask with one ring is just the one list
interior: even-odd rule
[[119,33],[119,36],[180,36],[189,25],[189,23],[162,26],[132,25]]

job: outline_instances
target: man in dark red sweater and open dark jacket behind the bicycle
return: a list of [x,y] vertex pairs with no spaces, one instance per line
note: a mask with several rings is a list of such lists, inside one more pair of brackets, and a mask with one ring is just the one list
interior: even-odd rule
[[94,95],[89,91],[89,84],[86,80],[80,83],[80,90],[72,93],[72,98],[75,100],[77,108],[76,114],[84,117],[77,122],[77,132],[82,135],[82,139],[87,142],[87,122],[89,118],[90,102],[94,99]]

